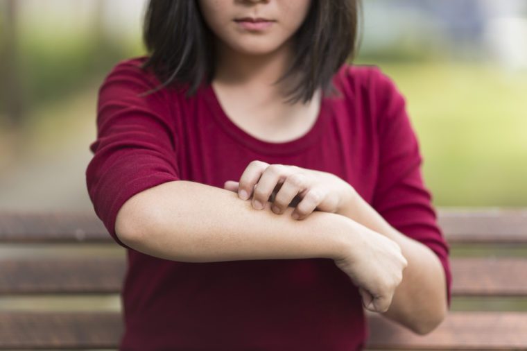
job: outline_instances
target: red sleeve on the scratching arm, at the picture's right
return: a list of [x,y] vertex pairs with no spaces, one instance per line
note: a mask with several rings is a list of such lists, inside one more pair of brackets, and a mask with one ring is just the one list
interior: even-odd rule
[[449,245],[437,223],[432,196],[422,178],[420,146],[405,99],[392,80],[375,69],[373,84],[379,130],[379,173],[372,206],[392,227],[438,255],[451,302]]

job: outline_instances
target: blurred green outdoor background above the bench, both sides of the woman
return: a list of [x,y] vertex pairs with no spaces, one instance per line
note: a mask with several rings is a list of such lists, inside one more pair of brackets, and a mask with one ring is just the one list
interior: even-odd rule
[[[527,1],[366,0],[357,64],[404,94],[438,206],[527,205]],[[144,0],[0,0],[0,208],[92,210],[97,89]]]

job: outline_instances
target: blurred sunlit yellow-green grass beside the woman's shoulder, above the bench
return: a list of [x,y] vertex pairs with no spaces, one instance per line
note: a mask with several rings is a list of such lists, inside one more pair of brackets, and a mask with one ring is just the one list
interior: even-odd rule
[[527,205],[527,72],[481,64],[379,67],[406,97],[436,205]]

